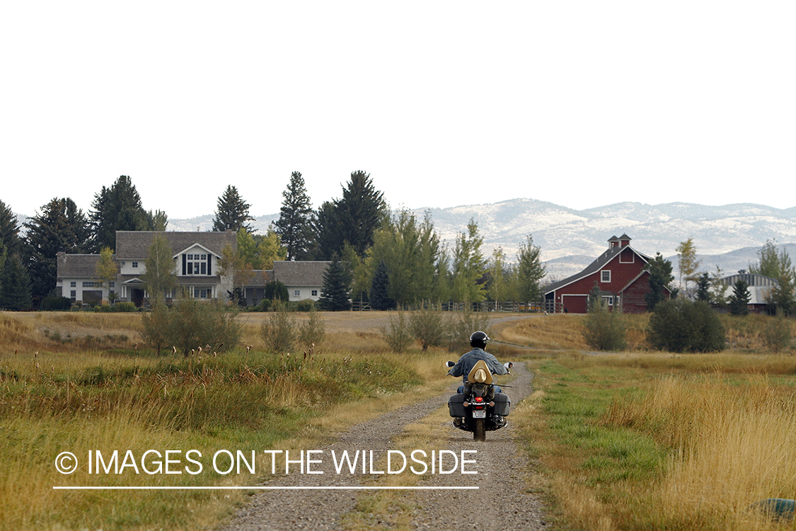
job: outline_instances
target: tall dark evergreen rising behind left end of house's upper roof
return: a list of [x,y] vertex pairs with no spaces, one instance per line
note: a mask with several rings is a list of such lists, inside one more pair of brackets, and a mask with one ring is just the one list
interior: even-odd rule
[[103,247],[115,249],[116,231],[151,230],[153,223],[141,205],[138,190],[127,175],[121,175],[110,188],[103,186],[94,196],[89,221],[93,252],[99,252]]

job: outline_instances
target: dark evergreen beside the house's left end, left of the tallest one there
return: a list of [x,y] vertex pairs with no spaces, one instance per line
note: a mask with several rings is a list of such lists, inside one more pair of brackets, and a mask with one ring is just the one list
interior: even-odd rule
[[55,289],[57,252],[86,252],[90,230],[83,211],[68,197],[44,205],[25,228],[30,290],[38,301]]

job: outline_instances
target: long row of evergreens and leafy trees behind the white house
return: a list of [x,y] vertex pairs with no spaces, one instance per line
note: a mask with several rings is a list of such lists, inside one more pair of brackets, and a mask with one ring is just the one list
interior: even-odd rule
[[[449,248],[428,214],[419,220],[405,209],[392,213],[384,193],[362,170],[350,174],[341,197],[323,201],[318,209],[311,205],[302,174],[293,172],[279,219],[265,234],[256,234],[251,205],[228,185],[213,218],[214,231],[236,232],[237,252],[229,249],[222,257],[224,270],[243,285],[248,271],[270,269],[274,260],[329,260],[321,302],[330,309],[345,309],[349,299],[387,309],[424,301],[541,297],[544,265],[530,235],[521,242],[516,262],[501,248],[484,256],[474,220]],[[0,201],[0,308],[27,310],[54,295],[57,252],[111,256],[116,231],[165,231],[167,226],[165,212],[143,208],[126,175],[103,186],[88,213],[71,198],[56,197],[20,226],[10,206]],[[111,278],[107,271],[103,275]]]

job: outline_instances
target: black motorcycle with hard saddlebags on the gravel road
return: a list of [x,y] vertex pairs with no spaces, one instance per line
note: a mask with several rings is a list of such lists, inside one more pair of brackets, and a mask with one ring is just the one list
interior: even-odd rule
[[[455,361],[446,361],[450,369]],[[504,363],[506,369],[514,364]],[[486,362],[478,360],[470,373],[463,392],[457,392],[448,399],[448,411],[454,417],[454,426],[460,430],[472,431],[476,441],[486,440],[486,432],[505,428],[505,416],[509,415],[511,401],[502,392],[495,392],[492,373]]]

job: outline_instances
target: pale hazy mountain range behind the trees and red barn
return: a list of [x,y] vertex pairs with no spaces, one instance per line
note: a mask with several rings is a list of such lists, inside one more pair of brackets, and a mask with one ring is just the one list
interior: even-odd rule
[[[627,234],[630,244],[649,256],[660,252],[675,266],[681,242],[693,239],[704,271],[720,267],[725,274],[747,268],[759,259],[767,240],[776,240],[790,256],[796,255],[796,207],[775,209],[764,205],[724,206],[693,203],[646,205],[623,202],[595,209],[576,210],[535,199],[511,199],[488,205],[463,205],[447,209],[412,210],[419,219],[431,215],[440,238],[453,247],[470,219],[478,223],[484,239],[482,251],[491,256],[501,247],[509,261],[528,235],[541,249],[548,278],[563,279],[590,264],[607,246],[611,236]],[[279,213],[256,217],[252,227],[265,232]],[[169,230],[206,231],[213,214],[189,219],[170,219]]]

